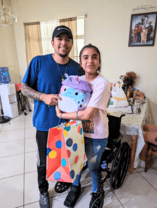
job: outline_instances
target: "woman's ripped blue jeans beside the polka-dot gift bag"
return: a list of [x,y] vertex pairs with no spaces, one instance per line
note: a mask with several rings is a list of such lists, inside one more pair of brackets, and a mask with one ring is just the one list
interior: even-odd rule
[[[108,138],[106,139],[92,139],[85,137],[85,152],[87,156],[88,168],[92,178],[93,191],[98,192],[101,190],[101,171],[100,163],[101,156],[107,145]],[[78,186],[81,179],[83,170],[76,176],[73,183],[74,186]]]

